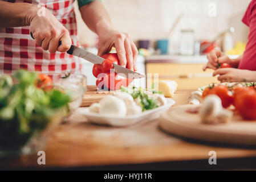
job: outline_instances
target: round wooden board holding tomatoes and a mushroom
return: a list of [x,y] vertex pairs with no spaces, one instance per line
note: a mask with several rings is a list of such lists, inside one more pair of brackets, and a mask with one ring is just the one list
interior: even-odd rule
[[238,114],[226,125],[206,125],[199,114],[186,110],[197,105],[172,107],[160,116],[160,127],[168,133],[209,142],[256,146],[256,121],[244,121]]

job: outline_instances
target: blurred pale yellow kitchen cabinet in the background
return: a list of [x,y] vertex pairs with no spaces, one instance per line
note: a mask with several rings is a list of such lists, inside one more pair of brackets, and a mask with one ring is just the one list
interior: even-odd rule
[[152,74],[152,81],[148,77],[147,86],[156,82],[155,76],[159,76],[159,80],[175,80],[178,83],[178,89],[195,89],[200,86],[209,85],[213,82],[219,82],[217,77],[213,77],[213,70],[207,69],[202,71],[202,67],[207,63],[206,57],[201,57],[198,61],[189,61],[189,57],[194,59],[195,56],[186,57],[187,60],[175,59],[168,60],[159,57],[155,59],[148,59],[146,61],[146,73]]

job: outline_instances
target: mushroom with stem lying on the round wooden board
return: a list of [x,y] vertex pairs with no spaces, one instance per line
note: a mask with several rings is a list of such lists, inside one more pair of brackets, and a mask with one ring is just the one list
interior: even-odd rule
[[201,106],[200,117],[206,124],[227,123],[231,121],[233,112],[222,107],[220,97],[210,95]]

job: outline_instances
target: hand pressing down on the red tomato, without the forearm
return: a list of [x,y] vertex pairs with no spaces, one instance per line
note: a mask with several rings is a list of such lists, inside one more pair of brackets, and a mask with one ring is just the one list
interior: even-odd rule
[[115,30],[112,27],[103,26],[99,30],[99,51],[98,55],[111,51],[111,48],[116,48],[116,53],[122,67],[136,71],[136,60],[138,50],[133,43],[129,34]]

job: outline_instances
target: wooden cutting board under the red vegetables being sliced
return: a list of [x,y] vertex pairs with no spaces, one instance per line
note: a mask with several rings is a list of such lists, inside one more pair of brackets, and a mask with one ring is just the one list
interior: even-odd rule
[[113,92],[110,91],[97,91],[95,85],[88,85],[87,92],[84,93],[83,101],[81,107],[87,107],[94,102],[99,102],[103,97],[112,95]]

